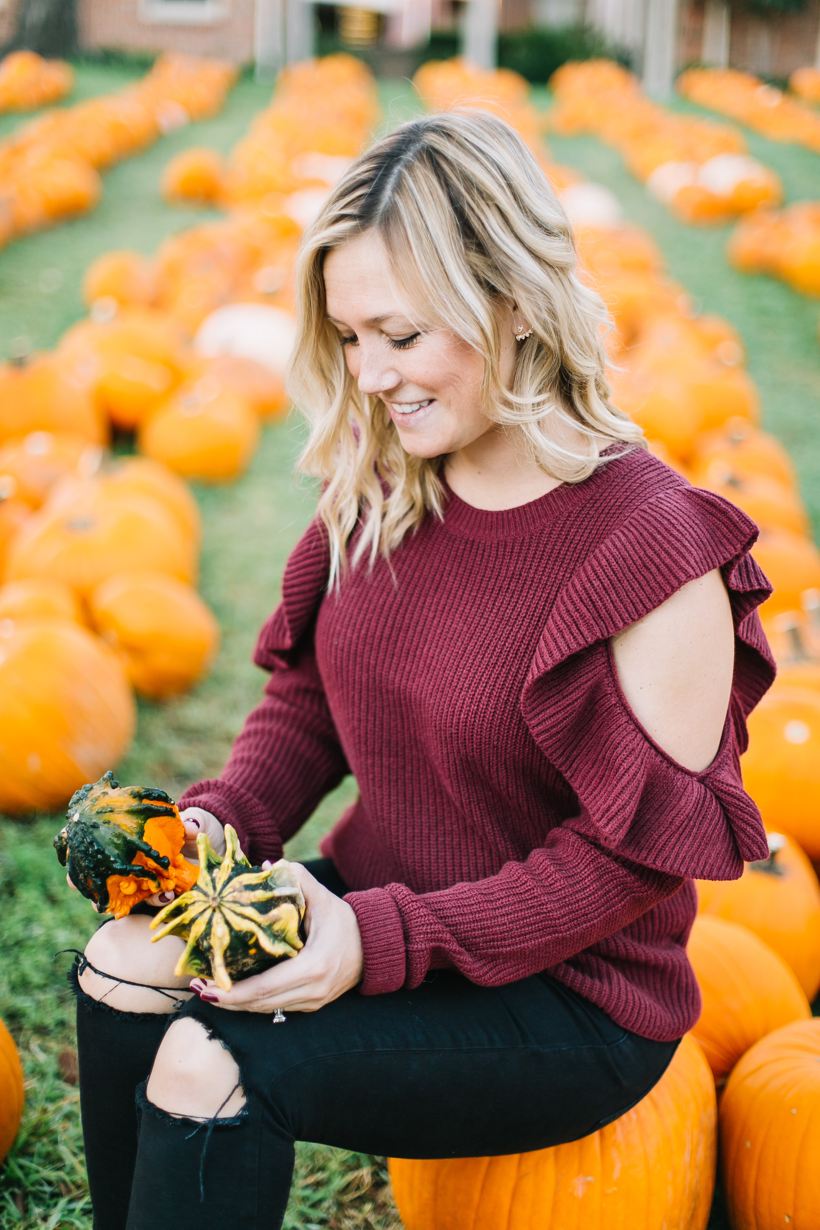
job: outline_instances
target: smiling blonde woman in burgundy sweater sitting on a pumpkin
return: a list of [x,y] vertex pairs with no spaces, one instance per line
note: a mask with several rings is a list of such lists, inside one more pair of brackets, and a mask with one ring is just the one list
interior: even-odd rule
[[298,958],[186,991],[146,916],[92,938],[97,1230],[275,1228],[295,1139],[578,1139],[697,1018],[690,877],[766,855],[738,758],[773,675],[768,587],[752,523],[609,403],[575,266],[532,154],[484,113],[376,143],[305,236],[291,375],[318,513],[258,642],[266,697],[186,829],[230,823],[262,862],[345,774],[360,798],[299,868]]

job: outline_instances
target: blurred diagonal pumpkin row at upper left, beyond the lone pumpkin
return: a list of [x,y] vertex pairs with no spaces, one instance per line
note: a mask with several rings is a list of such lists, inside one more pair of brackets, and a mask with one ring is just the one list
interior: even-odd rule
[[93,209],[100,170],[216,114],[235,79],[221,60],[166,53],[135,85],[23,124],[0,143],[0,246]]

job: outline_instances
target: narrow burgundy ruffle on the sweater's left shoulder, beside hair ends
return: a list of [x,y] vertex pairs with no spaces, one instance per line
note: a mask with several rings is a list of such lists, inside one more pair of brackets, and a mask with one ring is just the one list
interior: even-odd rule
[[329,563],[325,526],[313,519],[288,560],[282,601],[259,632],[253,653],[257,667],[286,670],[294,664],[327,588]]

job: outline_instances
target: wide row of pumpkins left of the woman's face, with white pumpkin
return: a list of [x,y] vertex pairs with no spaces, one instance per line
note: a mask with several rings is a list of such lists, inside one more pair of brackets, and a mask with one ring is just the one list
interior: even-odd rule
[[[368,70],[348,57],[327,69],[283,74],[264,113],[275,122],[282,98],[299,118],[294,157],[301,140],[302,154],[342,159],[325,153],[337,140],[331,96],[347,90],[350,153],[373,124]],[[0,365],[2,811],[59,807],[122,758],[129,683],[160,700],[213,661],[218,627],[193,588],[199,515],[182,478],[236,477],[261,422],[288,408],[301,228],[283,200],[248,198],[152,260],[100,257],[84,283],[90,315],[52,353]],[[143,455],[108,458],[112,428],[134,432]]]

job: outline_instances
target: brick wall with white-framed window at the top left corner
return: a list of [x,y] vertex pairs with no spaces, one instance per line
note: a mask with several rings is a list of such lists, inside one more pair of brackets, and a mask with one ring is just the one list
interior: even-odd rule
[[[199,0],[182,0],[168,6],[173,10],[197,10]],[[129,52],[189,52],[213,55],[236,64],[253,59],[254,0],[221,0],[202,5],[204,12],[215,12],[207,25],[152,21],[164,11],[161,0],[77,0],[80,46],[84,48],[118,48]],[[223,15],[219,9],[224,10]]]

